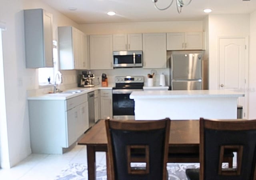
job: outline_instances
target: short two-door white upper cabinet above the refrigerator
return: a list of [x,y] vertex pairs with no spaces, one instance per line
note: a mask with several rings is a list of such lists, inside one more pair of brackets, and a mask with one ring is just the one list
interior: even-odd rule
[[202,50],[202,32],[168,32],[167,50]]

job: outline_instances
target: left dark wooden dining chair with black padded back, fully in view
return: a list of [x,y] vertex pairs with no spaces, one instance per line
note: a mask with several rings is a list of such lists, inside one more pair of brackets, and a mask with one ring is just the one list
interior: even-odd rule
[[[170,119],[105,120],[111,180],[166,180]],[[135,167],[134,163],[143,167]]]

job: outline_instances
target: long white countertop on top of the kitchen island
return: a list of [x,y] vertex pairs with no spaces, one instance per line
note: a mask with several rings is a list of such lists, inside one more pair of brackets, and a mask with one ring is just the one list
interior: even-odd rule
[[158,90],[158,91],[134,91],[131,99],[156,99],[156,98],[199,98],[199,97],[240,97],[242,92],[232,90]]

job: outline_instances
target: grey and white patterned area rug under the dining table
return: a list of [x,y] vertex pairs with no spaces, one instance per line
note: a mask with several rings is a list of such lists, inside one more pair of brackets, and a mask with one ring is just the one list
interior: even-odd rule
[[[187,168],[199,168],[199,163],[168,163],[169,180],[187,180]],[[69,164],[55,180],[88,180],[88,169],[85,164]],[[96,180],[107,180],[106,166],[96,167]]]

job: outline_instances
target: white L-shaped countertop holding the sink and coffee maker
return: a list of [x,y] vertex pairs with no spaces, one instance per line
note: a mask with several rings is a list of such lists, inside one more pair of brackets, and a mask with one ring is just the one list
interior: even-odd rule
[[[67,91],[76,91],[76,90],[81,90],[82,92],[79,92],[76,94],[65,93]],[[28,100],[67,100],[70,98],[74,98],[76,96],[80,96],[82,94],[86,94],[88,92],[92,92],[94,90],[112,90],[112,86],[109,86],[109,87],[95,86],[92,88],[76,87],[76,88],[64,90],[61,93],[48,93],[48,94],[42,94],[40,96],[30,96],[27,99]]]

